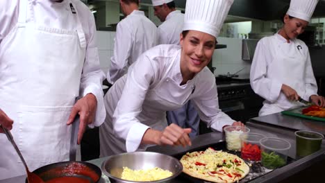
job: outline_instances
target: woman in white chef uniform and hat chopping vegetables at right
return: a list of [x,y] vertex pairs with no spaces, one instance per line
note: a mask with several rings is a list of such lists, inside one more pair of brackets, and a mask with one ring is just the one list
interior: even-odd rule
[[299,97],[321,107],[308,47],[297,39],[313,15],[318,0],[291,0],[283,28],[258,42],[251,64],[251,87],[265,98],[259,116],[299,107]]

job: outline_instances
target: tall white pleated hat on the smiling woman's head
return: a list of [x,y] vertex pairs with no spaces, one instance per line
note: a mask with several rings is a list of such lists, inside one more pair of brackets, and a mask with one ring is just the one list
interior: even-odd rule
[[187,0],[183,30],[199,30],[217,37],[233,0]]

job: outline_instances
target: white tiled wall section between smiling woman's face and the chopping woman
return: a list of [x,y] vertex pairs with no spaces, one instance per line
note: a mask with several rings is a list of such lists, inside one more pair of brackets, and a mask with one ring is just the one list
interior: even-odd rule
[[219,44],[226,44],[226,49],[216,49],[213,54],[213,67],[216,68],[215,76],[219,74],[238,73],[241,77],[248,77],[251,62],[242,60],[242,40],[238,38],[218,37]]

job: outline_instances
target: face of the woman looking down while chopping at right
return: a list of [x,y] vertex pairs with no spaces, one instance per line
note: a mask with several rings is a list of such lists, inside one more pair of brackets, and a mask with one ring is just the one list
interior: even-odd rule
[[284,26],[283,29],[285,31],[285,35],[287,35],[288,39],[292,40],[305,30],[306,26],[308,26],[308,21],[298,18],[290,18],[289,15],[285,15],[284,17]]

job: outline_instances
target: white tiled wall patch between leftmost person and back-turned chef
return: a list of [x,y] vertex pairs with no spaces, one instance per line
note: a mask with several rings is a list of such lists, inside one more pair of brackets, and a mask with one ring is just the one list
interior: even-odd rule
[[113,55],[115,32],[97,31],[96,36],[101,69],[107,73],[110,68],[110,57]]

